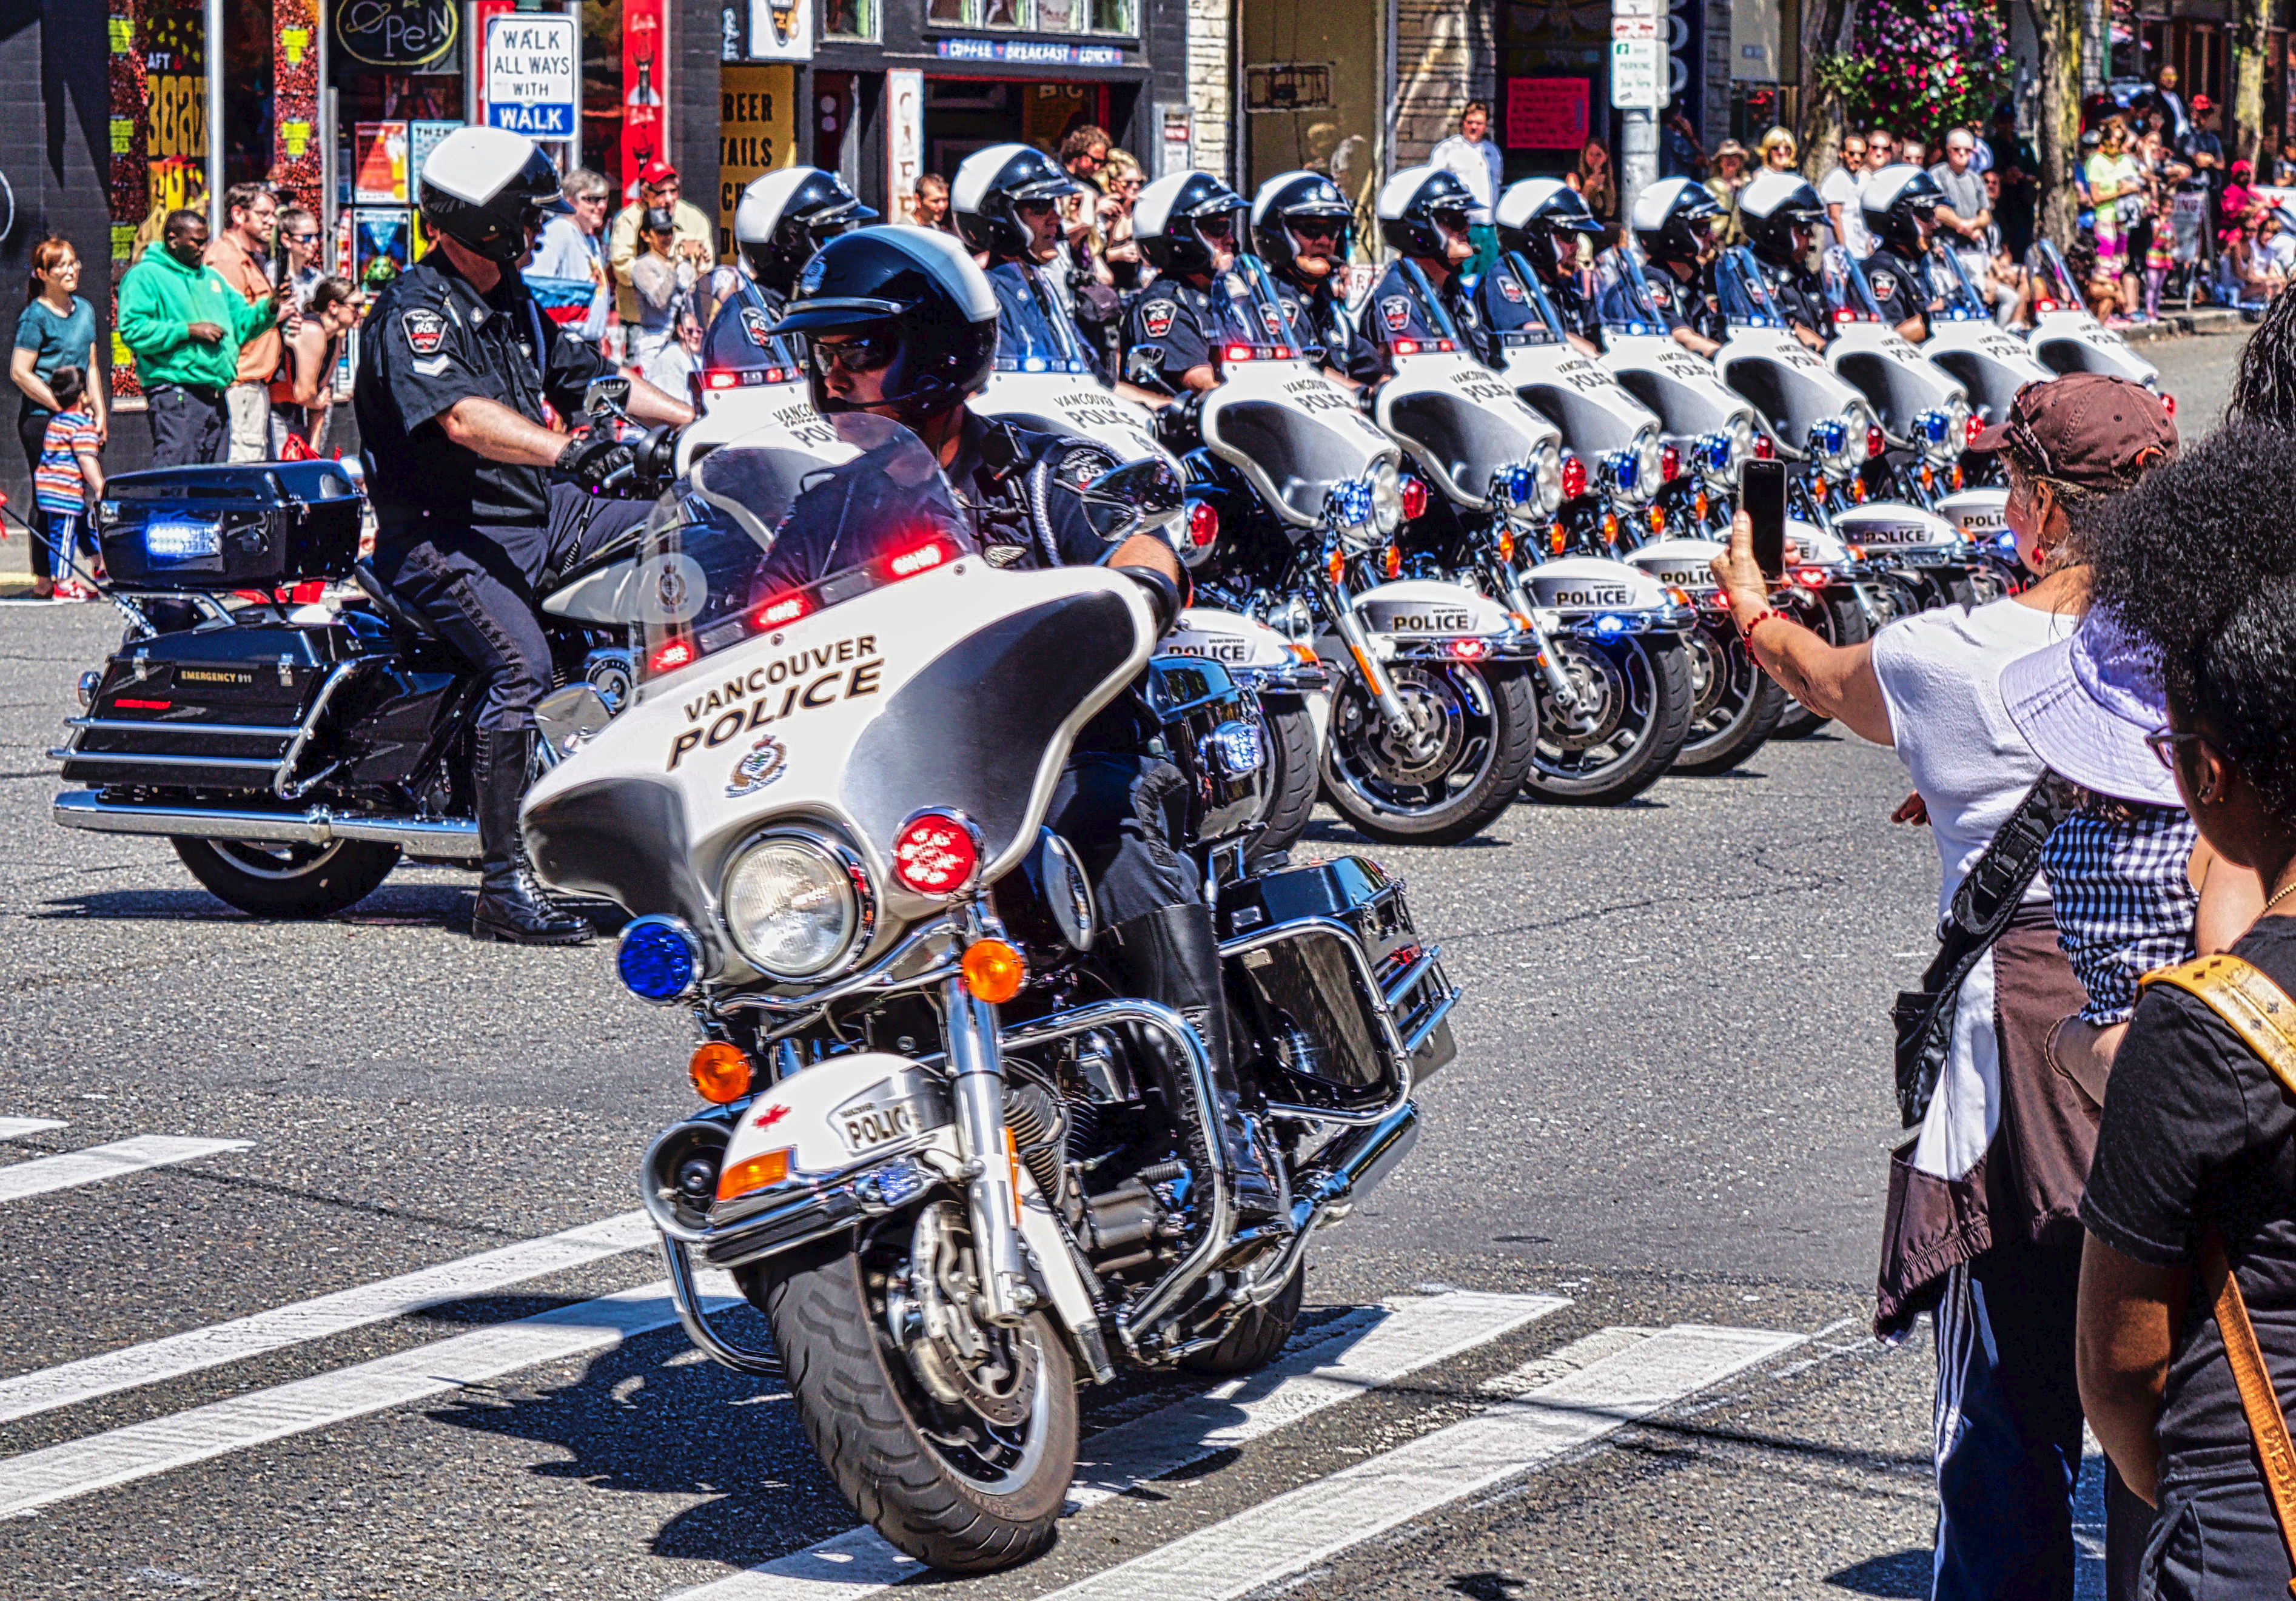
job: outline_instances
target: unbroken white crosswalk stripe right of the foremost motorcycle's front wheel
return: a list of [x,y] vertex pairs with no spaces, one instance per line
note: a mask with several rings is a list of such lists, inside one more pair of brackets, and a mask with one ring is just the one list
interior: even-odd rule
[[1800,1339],[1688,1323],[1658,1330],[1515,1401],[1341,1468],[1042,1601],[1233,1601],[1550,1463]]

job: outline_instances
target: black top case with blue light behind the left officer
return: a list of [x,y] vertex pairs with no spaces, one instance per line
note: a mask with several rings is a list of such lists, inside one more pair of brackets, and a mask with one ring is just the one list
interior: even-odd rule
[[347,577],[360,503],[335,462],[165,466],[103,485],[96,537],[119,588],[269,590]]

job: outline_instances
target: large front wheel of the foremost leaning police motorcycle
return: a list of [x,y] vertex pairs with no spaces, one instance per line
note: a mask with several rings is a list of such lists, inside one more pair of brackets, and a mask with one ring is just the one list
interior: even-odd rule
[[964,1206],[939,1199],[850,1243],[739,1277],[765,1312],[806,1438],[879,1534],[946,1573],[1054,1541],[1077,1470],[1077,1371],[1042,1312],[974,1316]]

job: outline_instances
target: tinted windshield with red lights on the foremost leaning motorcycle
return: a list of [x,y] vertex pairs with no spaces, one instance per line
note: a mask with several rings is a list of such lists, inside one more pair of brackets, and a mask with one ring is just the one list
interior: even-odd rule
[[900,423],[824,418],[831,441],[735,439],[696,462],[645,524],[629,611],[641,678],[661,678],[964,556],[941,464]]

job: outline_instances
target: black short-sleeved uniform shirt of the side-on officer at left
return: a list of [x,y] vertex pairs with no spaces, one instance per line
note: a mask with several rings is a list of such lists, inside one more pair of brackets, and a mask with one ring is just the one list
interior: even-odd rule
[[549,556],[551,471],[489,462],[452,443],[439,416],[482,395],[535,423],[544,400],[572,418],[590,379],[611,372],[595,347],[535,308],[517,271],[480,294],[445,250],[409,266],[367,312],[351,388],[381,540],[448,547],[478,537],[535,577]]

